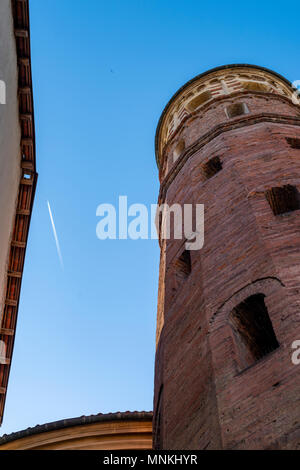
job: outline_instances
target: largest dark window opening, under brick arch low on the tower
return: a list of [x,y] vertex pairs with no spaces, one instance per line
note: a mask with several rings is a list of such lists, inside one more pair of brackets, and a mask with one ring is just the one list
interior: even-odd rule
[[264,294],[251,295],[229,315],[241,369],[279,347],[264,299]]

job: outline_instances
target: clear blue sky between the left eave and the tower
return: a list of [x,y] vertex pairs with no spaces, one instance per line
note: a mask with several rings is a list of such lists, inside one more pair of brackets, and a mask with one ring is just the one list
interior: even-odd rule
[[156,202],[156,124],[193,76],[246,62],[300,79],[296,4],[30,6],[39,181],[1,433],[152,409],[158,243],[99,241],[96,208]]

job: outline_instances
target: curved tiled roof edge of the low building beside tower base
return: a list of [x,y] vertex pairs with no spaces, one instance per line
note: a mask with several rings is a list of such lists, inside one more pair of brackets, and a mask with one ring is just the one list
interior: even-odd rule
[[78,418],[62,419],[53,421],[52,423],[37,425],[34,428],[24,429],[23,431],[13,432],[12,434],[4,434],[0,438],[0,447],[8,442],[23,439],[25,437],[34,436],[50,431],[58,431],[59,429],[70,428],[73,426],[83,426],[85,424],[93,424],[108,421],[152,421],[152,411],[125,411],[116,413],[99,413],[97,415],[80,416]]

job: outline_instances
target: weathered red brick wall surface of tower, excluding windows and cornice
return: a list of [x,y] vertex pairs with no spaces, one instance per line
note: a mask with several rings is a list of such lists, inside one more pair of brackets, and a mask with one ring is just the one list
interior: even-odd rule
[[[278,122],[226,129],[196,149],[209,129],[228,122],[220,100],[186,120],[164,154],[171,159],[181,138],[196,149],[183,165],[184,155],[169,165],[169,172],[181,167],[168,184],[162,175],[160,202],[205,204],[205,243],[191,251],[192,272],[177,290],[183,240],[161,245],[154,423],[159,408],[163,448],[300,448],[300,366],[291,362],[300,339],[300,210],[274,216],[264,194],[286,184],[300,191],[300,150],[286,141],[300,138],[300,126],[280,119],[297,119],[299,106],[255,93],[243,101],[250,114],[232,121],[272,113]],[[206,179],[201,165],[214,156],[223,168]],[[280,347],[241,371],[228,316],[256,293],[266,296]]]

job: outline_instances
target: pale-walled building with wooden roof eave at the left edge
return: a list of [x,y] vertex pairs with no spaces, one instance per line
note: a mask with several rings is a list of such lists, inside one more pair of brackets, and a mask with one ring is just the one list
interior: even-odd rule
[[27,0],[0,2],[0,424],[36,185]]

